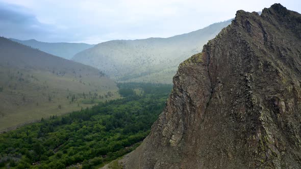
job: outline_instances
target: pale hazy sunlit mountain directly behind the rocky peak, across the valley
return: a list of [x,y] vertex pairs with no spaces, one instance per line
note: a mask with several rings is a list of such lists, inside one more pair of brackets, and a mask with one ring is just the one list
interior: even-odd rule
[[170,38],[113,40],[77,53],[73,61],[96,67],[123,82],[171,83],[181,62],[202,51],[231,20]]

